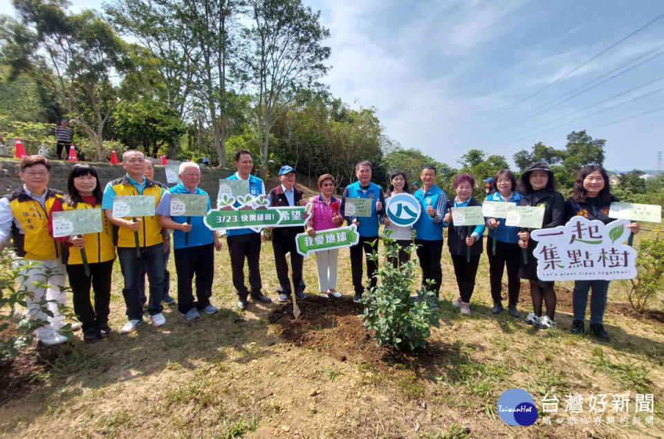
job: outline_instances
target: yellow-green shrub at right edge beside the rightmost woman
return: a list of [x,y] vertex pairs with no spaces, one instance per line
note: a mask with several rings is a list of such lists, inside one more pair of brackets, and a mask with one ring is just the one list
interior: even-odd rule
[[634,310],[643,312],[648,299],[664,290],[664,239],[644,239],[636,250],[637,274],[629,281],[627,298]]

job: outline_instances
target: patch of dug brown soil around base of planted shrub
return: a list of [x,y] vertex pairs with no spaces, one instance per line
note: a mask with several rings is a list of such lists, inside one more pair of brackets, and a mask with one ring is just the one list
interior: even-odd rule
[[297,347],[316,348],[342,362],[358,361],[381,368],[403,364],[409,368],[427,368],[450,355],[442,342],[434,341],[423,351],[396,351],[391,346],[376,346],[373,334],[362,326],[358,315],[362,306],[350,298],[321,299],[307,297],[297,301],[301,314],[293,317],[293,303],[270,313],[268,321],[277,335]]

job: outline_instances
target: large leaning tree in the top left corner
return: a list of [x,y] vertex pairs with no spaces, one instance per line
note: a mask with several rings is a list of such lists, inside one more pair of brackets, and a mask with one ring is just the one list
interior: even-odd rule
[[133,71],[138,49],[95,12],[68,14],[64,1],[14,0],[14,7],[20,22],[6,21],[6,61],[57,95],[105,161],[104,125],[120,102],[117,78]]

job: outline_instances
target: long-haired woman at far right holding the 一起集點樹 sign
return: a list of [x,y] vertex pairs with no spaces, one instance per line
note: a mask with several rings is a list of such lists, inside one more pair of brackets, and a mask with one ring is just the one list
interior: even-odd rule
[[[611,202],[618,198],[611,195],[609,176],[604,168],[597,165],[584,166],[576,174],[574,192],[567,200],[566,220],[574,216],[584,216],[589,220],[599,220],[608,224],[609,207]],[[632,233],[638,233],[638,223],[628,225]],[[609,282],[606,280],[575,281],[572,305],[574,320],[571,331],[573,334],[583,333],[583,321],[586,317],[586,306],[588,304],[588,292],[593,289],[590,297],[590,334],[602,342],[609,341],[609,334],[604,328],[604,311],[607,308],[607,293]]]

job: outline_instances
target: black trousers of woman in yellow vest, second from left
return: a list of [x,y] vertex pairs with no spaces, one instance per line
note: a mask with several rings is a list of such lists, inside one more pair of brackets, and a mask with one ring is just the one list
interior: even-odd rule
[[[83,264],[67,264],[69,286],[73,292],[74,312],[84,331],[95,330],[109,322],[111,303],[111,272],[113,261],[88,264],[86,276]],[[95,306],[90,301],[90,286],[95,294]]]

